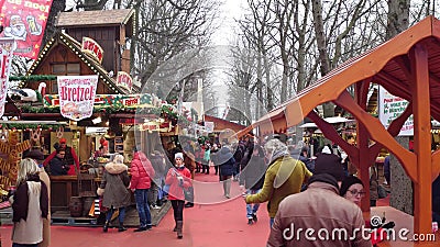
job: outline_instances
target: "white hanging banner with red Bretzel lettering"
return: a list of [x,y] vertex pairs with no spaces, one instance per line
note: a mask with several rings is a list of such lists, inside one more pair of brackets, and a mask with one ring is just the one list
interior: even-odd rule
[[74,121],[90,117],[98,76],[66,76],[57,80],[62,115]]

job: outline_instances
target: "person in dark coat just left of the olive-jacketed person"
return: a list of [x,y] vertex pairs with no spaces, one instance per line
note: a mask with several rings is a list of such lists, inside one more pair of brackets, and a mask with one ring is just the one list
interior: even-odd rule
[[[243,166],[240,173],[240,187],[246,189],[246,194],[256,194],[263,188],[266,165],[264,162],[264,151],[258,145],[250,148],[241,162]],[[246,204],[248,224],[257,222],[256,212],[260,203]]]

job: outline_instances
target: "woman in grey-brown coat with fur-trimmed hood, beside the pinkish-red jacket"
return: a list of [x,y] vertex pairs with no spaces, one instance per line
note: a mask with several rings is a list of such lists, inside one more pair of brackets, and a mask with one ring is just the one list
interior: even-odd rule
[[125,206],[130,205],[131,201],[131,193],[128,190],[130,184],[129,167],[123,164],[122,155],[116,155],[113,161],[108,162],[105,168],[102,181],[97,191],[98,195],[103,195],[102,206],[109,209],[102,231],[108,232],[111,216],[119,209],[118,232],[124,232],[127,231],[123,225]]

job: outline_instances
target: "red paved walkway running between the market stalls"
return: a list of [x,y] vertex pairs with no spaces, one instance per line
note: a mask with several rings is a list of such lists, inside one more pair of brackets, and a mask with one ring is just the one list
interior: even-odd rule
[[[116,228],[102,233],[100,227],[52,226],[54,247],[122,247],[122,246],[166,246],[166,247],[258,247],[265,246],[270,227],[266,204],[262,204],[258,222],[248,225],[245,204],[240,197],[238,182],[232,183],[232,199],[223,198],[218,177],[197,175],[195,207],[184,211],[184,238],[177,239],[174,227],[173,210],[152,231],[118,233]],[[389,198],[389,197],[388,197]],[[386,205],[388,198],[380,200],[377,205]],[[2,246],[11,246],[11,226],[1,226]]]

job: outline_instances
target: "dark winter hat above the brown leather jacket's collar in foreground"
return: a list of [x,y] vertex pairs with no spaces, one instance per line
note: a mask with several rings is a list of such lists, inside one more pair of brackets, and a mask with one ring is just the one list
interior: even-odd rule
[[341,158],[333,154],[321,153],[315,160],[314,175],[328,173],[333,176],[338,181],[344,179]]

